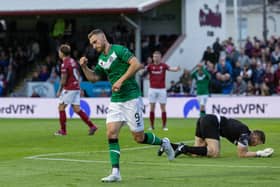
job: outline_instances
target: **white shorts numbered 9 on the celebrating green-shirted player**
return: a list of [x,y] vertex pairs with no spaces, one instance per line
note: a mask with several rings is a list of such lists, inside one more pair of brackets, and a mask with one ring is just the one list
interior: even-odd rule
[[106,123],[124,122],[132,132],[143,131],[143,106],[141,97],[126,102],[110,102]]

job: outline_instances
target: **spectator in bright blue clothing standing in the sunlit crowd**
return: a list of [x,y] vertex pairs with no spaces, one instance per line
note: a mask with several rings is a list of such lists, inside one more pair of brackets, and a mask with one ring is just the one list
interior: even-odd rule
[[221,56],[217,65],[216,78],[221,85],[223,94],[230,94],[232,89],[232,66],[225,56]]

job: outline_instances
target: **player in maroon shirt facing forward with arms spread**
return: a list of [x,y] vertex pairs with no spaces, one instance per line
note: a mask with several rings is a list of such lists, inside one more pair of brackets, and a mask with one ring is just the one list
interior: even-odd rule
[[165,74],[166,71],[177,72],[180,70],[180,67],[170,67],[167,64],[161,61],[161,53],[155,51],[153,53],[153,63],[148,64],[145,67],[145,71],[149,74],[150,79],[150,88],[149,88],[149,102],[150,102],[150,128],[149,130],[154,129],[155,121],[155,105],[156,102],[160,103],[161,108],[161,119],[162,119],[162,128],[164,131],[167,131],[166,127],[166,100],[167,93],[165,87]]

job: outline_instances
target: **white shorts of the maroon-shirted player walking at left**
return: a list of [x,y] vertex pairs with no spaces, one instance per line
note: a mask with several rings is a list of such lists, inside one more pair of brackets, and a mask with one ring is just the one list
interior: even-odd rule
[[62,90],[58,103],[80,105],[80,90]]

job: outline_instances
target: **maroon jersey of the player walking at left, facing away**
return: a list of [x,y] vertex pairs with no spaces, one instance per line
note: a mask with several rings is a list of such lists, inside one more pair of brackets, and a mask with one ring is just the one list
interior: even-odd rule
[[65,58],[61,64],[61,73],[67,74],[67,81],[63,89],[80,90],[80,72],[75,60],[72,58]]

